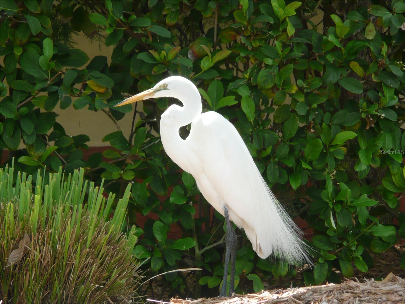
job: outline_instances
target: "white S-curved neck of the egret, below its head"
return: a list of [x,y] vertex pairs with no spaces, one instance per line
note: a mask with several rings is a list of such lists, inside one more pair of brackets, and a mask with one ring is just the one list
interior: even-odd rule
[[[193,122],[200,116],[203,106],[201,96],[197,88],[187,86],[182,91],[170,92],[170,96],[177,98],[183,103],[183,107],[171,105],[160,120],[160,137],[167,155],[179,165],[183,170],[192,173],[193,166],[190,158],[194,158],[195,153],[179,135],[179,128]],[[196,163],[197,160],[194,160]]]

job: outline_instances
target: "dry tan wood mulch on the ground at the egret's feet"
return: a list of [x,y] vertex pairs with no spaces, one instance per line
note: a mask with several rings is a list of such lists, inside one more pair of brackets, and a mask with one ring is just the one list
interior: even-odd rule
[[170,304],[396,304],[405,303],[405,280],[390,273],[382,281],[373,279],[359,281],[356,278],[355,281],[346,279],[341,284],[274,289],[228,298],[198,300],[172,298],[170,302],[149,301]]

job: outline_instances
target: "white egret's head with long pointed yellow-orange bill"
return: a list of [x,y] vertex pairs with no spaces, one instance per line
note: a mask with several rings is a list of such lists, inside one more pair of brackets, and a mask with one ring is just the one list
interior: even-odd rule
[[134,103],[136,101],[149,99],[149,98],[159,98],[159,97],[175,97],[175,91],[181,88],[181,83],[191,82],[190,80],[181,76],[171,76],[159,81],[153,88],[136,94],[132,97],[126,98],[125,100],[117,103],[115,107],[121,105],[127,105],[128,103]]

